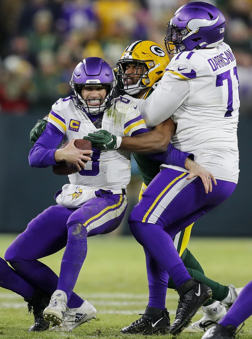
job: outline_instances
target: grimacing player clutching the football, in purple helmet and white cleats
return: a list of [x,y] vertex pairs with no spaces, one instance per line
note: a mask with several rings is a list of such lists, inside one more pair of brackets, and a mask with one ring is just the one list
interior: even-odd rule
[[[66,316],[64,328],[60,330],[71,331],[96,316],[95,308],[75,295],[73,288],[85,260],[87,237],[109,233],[119,226],[127,207],[125,194],[131,172],[129,151],[93,149],[91,159],[91,151],[77,149],[74,140],[101,128],[121,137],[149,132],[136,103],[123,97],[114,100],[115,84],[112,68],[100,58],[86,58],[74,69],[71,80],[74,96],[59,99],[52,106],[46,129],[31,149],[29,161],[36,167],[65,161],[74,164],[78,172],[69,175],[70,183],[56,193],[58,204],[33,219],[5,253],[5,260],[16,272],[52,294],[44,317],[61,324]],[[158,133],[152,134],[155,135],[160,139]],[[62,140],[69,144],[56,149]],[[119,146],[113,139],[108,144]],[[153,151],[156,147],[153,145]],[[178,163],[185,165],[189,154],[175,150],[175,161],[172,161],[172,149],[170,144],[162,159],[169,158],[171,163],[176,163],[181,154]],[[85,164],[83,161],[87,160]],[[65,245],[58,279],[37,259]]]

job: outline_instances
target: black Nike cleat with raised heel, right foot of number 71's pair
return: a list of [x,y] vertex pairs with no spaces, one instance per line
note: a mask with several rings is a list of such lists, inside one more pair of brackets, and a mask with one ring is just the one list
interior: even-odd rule
[[199,307],[212,297],[212,290],[202,282],[190,279],[177,290],[179,294],[176,317],[171,325],[170,333],[177,335],[187,327]]

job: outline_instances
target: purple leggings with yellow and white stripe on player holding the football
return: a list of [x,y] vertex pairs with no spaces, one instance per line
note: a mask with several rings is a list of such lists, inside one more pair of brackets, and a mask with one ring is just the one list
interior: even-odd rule
[[[27,226],[5,252],[5,260],[28,282],[52,294],[66,293],[70,308],[83,300],[74,292],[87,253],[87,237],[114,231],[127,207],[124,195],[93,198],[80,208],[51,206]],[[58,276],[38,259],[65,247]]]

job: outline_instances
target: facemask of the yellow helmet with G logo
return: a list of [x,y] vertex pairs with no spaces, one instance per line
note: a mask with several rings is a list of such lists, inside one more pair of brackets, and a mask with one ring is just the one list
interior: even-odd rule
[[[153,67],[155,66],[155,62],[153,60],[148,60],[148,62],[149,64],[152,63]],[[135,65],[135,73],[126,73],[128,64]],[[129,95],[135,95],[140,92],[141,89],[148,88],[147,85],[150,83],[150,79],[148,76],[149,69],[146,65],[145,60],[121,59],[117,62],[116,66],[117,82],[119,88],[122,91],[126,92]],[[129,84],[129,82],[131,82],[130,80],[134,81],[134,79],[136,78],[138,79],[136,83]]]

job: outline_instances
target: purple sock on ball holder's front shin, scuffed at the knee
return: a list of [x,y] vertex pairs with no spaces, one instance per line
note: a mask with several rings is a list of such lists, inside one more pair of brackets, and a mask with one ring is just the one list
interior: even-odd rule
[[[68,239],[62,257],[57,290],[64,291],[69,300],[88,251],[88,232],[82,224],[68,226]],[[69,304],[67,304],[69,307]]]

